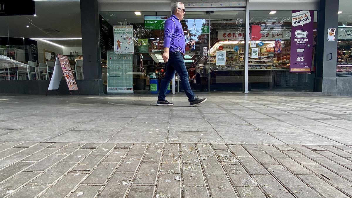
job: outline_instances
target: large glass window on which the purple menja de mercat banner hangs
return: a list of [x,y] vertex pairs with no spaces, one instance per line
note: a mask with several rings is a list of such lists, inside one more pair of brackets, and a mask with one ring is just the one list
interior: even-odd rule
[[[250,12],[252,37],[253,32],[256,31],[260,31],[259,36],[261,36],[260,39],[252,39],[256,41],[249,43],[248,81],[251,84],[252,91],[313,91],[317,12],[314,11],[314,16],[311,16],[314,17],[313,30],[310,30],[313,33],[303,29],[302,31],[298,30],[298,33],[301,34],[299,36],[300,41],[295,40],[297,43],[306,42],[307,34],[308,36],[313,34],[313,41],[312,39],[309,41],[312,42],[313,46],[307,45],[312,50],[311,55],[304,51],[308,49],[307,47],[301,49],[299,44],[292,44],[294,42],[291,40],[292,14],[292,11]],[[255,27],[252,25],[255,25]],[[257,28],[257,30],[253,30],[253,28]],[[296,30],[295,32],[297,34]],[[302,60],[306,64],[305,67],[293,67],[290,62],[292,50],[295,51],[295,63]],[[312,61],[307,62],[307,60]]]

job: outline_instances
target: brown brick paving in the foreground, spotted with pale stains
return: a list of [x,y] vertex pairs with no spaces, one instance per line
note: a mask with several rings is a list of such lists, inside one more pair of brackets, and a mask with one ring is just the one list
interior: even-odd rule
[[[17,144],[11,145],[15,148]],[[130,151],[136,145],[127,145],[127,148],[107,146],[108,151],[103,150],[105,147],[75,147],[75,151],[69,151],[70,155],[52,154],[54,149],[60,148],[44,147],[38,151],[43,154],[41,161],[23,159],[0,170],[3,173],[1,193],[4,197],[24,197],[26,193],[39,197],[129,197],[128,194],[143,197],[144,193],[144,197],[156,198],[169,195],[348,197],[352,194],[352,181],[349,180],[352,179],[349,177],[352,170],[348,165],[339,165],[328,159],[337,156],[333,152],[321,157],[304,156],[298,151],[307,148],[304,146],[297,147],[298,150],[282,150],[287,154],[285,157],[277,157],[282,156],[281,151],[274,146],[226,145],[231,150],[223,150],[223,146],[198,144],[197,149],[192,146],[186,147],[191,149],[180,149],[182,146],[175,143],[168,145],[169,149],[137,145],[132,153]],[[73,148],[69,147],[69,150]],[[207,156],[201,156],[199,148]],[[252,156],[243,156],[245,150],[242,148],[251,148],[248,154]],[[99,154],[92,155],[96,150],[95,154]],[[317,150],[313,152],[319,153]],[[36,154],[31,156],[32,159],[39,158]],[[343,162],[341,159],[345,158],[339,157]],[[193,191],[198,194],[192,196]]]

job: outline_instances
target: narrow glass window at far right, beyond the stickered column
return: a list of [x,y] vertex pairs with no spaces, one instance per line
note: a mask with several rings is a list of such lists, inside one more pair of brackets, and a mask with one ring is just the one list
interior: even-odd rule
[[352,11],[350,0],[339,0],[336,76],[352,75]]

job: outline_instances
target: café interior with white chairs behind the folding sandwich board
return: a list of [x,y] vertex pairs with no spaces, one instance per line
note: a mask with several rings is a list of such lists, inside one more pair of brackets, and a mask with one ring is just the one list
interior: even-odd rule
[[35,1],[35,8],[31,16],[0,17],[0,80],[50,80],[57,54],[84,79],[80,1]]

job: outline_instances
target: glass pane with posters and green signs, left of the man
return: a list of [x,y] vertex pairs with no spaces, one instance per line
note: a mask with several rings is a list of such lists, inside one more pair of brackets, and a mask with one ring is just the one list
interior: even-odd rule
[[100,12],[100,53],[105,92],[157,92],[165,75],[162,58],[164,21],[170,13]]

